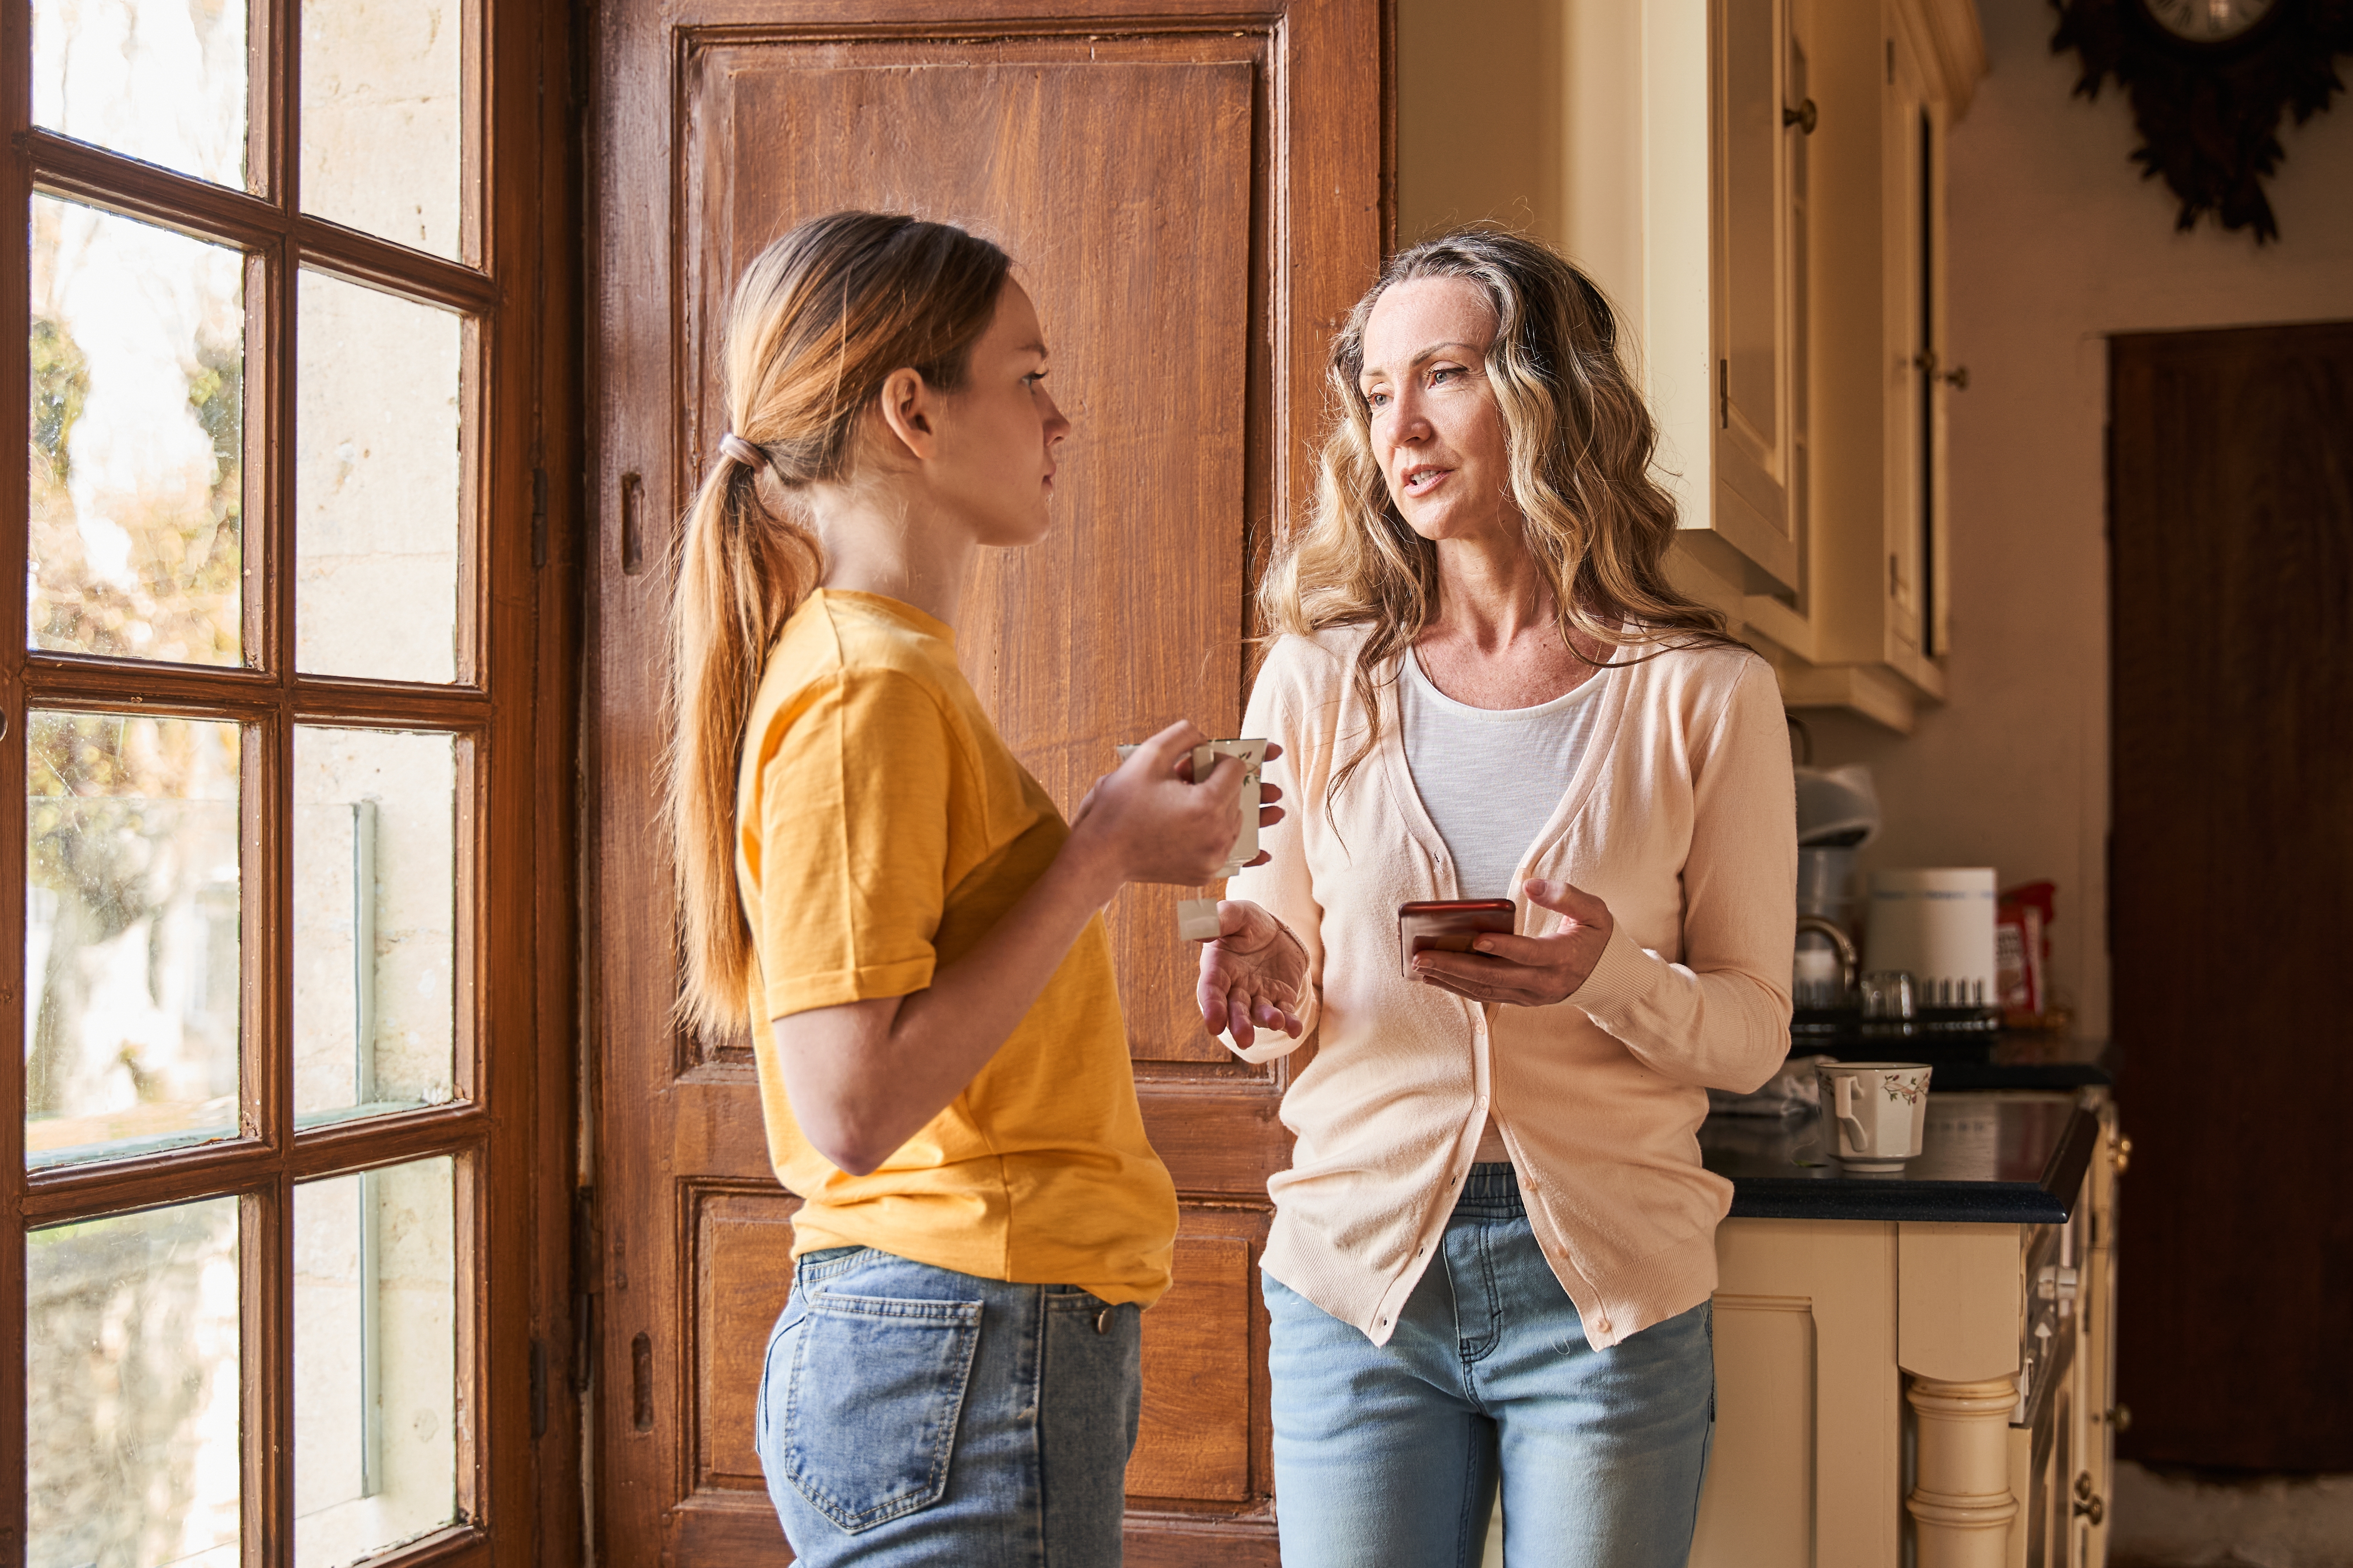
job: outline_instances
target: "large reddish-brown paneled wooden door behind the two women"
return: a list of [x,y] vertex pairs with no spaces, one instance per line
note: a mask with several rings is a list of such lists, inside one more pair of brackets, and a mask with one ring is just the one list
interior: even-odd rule
[[[1329,329],[1381,242],[1381,9],[1271,0],[1002,7],[633,0],[607,7],[593,118],[591,1060],[607,1561],[781,1563],[751,1446],[795,1199],[748,1044],[671,1027],[654,818],[664,559],[722,435],[744,263],[838,207],[1002,242],[1078,430],[1049,541],[986,564],[960,637],[1014,750],[1068,811],[1113,745],[1233,733],[1252,567],[1297,512]],[[1191,1020],[1174,889],[1111,910],[1146,1124],[1176,1175],[1176,1286],[1146,1314],[1132,1563],[1273,1563],[1266,1178],[1282,1067]]]

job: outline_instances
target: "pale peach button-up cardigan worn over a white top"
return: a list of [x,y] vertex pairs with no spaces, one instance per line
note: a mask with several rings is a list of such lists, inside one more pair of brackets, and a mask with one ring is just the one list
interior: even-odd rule
[[[1732,1185],[1699,1164],[1706,1091],[1758,1088],[1788,1053],[1798,806],[1772,668],[1708,646],[1593,677],[1607,682],[1593,738],[1513,889],[1572,882],[1617,929],[1567,1001],[1478,1006],[1398,969],[1398,905],[1461,891],[1405,764],[1395,670],[1379,745],[1329,795],[1365,729],[1348,679],[1360,644],[1360,630],[1278,639],[1242,724],[1282,743],[1289,813],[1261,837],[1273,860],[1226,896],[1282,917],[1315,983],[1313,1060],[1282,1098],[1292,1168],[1266,1182],[1266,1272],[1386,1342],[1492,1098],[1586,1340],[1617,1345],[1715,1288]],[[1522,933],[1558,922],[1520,898]],[[1259,1034],[1238,1056],[1299,1044]]]

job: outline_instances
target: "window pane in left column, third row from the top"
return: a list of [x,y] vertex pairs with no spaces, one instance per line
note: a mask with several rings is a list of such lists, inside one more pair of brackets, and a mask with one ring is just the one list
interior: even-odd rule
[[238,1131],[238,726],[33,712],[24,1143],[35,1166]]

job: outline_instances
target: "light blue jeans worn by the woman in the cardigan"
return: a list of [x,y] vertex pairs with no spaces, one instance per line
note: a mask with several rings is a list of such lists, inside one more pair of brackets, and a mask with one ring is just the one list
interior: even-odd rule
[[1586,1345],[1511,1166],[1473,1166],[1388,1345],[1266,1274],[1282,1568],[1680,1568],[1715,1436],[1708,1302]]

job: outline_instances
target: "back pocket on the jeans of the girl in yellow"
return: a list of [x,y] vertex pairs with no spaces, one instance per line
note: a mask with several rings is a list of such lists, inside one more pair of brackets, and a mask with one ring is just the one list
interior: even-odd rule
[[856,1535],[948,1490],[981,1302],[809,1291],[784,1396],[784,1474]]

